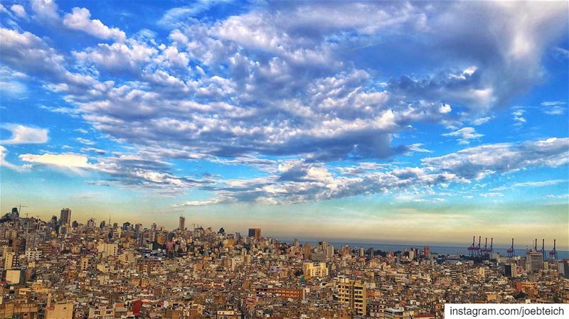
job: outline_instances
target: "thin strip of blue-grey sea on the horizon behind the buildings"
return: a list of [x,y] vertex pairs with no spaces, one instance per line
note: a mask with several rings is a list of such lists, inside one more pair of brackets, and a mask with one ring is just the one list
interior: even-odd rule
[[[283,242],[287,242],[287,243],[292,243],[294,242],[294,239],[289,239],[289,238],[282,238],[279,239],[282,240]],[[299,239],[299,242],[301,244],[304,243],[309,243],[311,244],[313,247],[314,245],[317,245],[319,241],[315,241],[314,239],[307,239],[307,240],[303,240],[303,239]],[[381,250],[383,252],[397,252],[397,251],[403,251],[404,249],[410,249],[410,248],[417,248],[419,250],[422,250],[423,247],[428,246],[430,248],[430,252],[431,254],[450,254],[450,255],[459,255],[459,254],[464,254],[464,255],[468,255],[468,250],[467,247],[457,247],[457,246],[437,246],[437,245],[425,245],[425,244],[376,244],[376,243],[362,243],[362,242],[334,242],[334,241],[326,241],[326,243],[328,243],[329,245],[334,246],[334,249],[340,249],[341,247],[345,247],[346,245],[351,247],[351,249],[356,249],[359,247],[363,247],[364,249],[369,249],[369,248],[373,248],[375,250]],[[482,245],[484,246],[484,245]],[[539,248],[539,247],[538,247]],[[499,253],[501,256],[508,256],[508,253],[506,252],[509,249],[509,247],[494,247],[494,253]],[[514,251],[516,253],[516,256],[524,256],[527,252],[526,247],[519,247],[516,248],[514,247]],[[557,256],[558,259],[569,259],[569,251],[565,251],[565,250],[558,250],[557,251]],[[549,249],[546,248],[546,257],[547,259],[549,259]]]

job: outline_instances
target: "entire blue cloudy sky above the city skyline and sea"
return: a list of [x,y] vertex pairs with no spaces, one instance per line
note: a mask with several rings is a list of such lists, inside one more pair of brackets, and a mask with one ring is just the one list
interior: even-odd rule
[[569,249],[567,1],[0,4],[2,213]]

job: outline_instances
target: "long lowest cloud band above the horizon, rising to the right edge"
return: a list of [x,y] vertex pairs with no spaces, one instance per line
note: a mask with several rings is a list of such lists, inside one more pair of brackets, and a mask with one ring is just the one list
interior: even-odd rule
[[[546,139],[520,144],[489,144],[464,148],[445,156],[424,158],[420,167],[381,166],[362,163],[360,167],[343,168],[334,175],[322,163],[283,161],[276,171],[265,178],[224,180],[220,186],[209,185],[207,190],[218,193],[212,200],[190,202],[180,206],[206,205],[224,202],[264,202],[294,204],[371,195],[411,188],[446,187],[449,183],[469,184],[496,174],[543,166],[558,167],[569,162],[569,139]],[[494,176],[495,177],[495,176]],[[519,187],[553,185],[558,180],[519,183]],[[560,183],[560,182],[559,182]],[[223,185],[225,184],[225,185]],[[423,193],[423,194],[424,194]],[[498,192],[482,193],[484,197],[501,197]],[[422,195],[421,195],[422,196]],[[417,195],[414,195],[417,198]],[[420,197],[420,200],[425,200]],[[440,198],[431,198],[440,201]]]

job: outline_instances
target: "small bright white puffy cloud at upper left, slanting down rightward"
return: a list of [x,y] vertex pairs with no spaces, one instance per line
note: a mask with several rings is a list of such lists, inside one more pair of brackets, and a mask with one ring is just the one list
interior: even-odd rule
[[102,39],[122,41],[127,37],[119,28],[109,28],[100,20],[91,20],[90,17],[91,13],[88,9],[75,7],[71,13],[65,14],[63,17],[63,25]]

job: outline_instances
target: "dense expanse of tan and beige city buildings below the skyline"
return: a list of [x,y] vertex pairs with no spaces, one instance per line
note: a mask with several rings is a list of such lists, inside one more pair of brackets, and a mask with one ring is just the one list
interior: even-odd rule
[[[569,260],[129,222],[1,218],[0,318],[442,318],[445,303],[567,303]],[[486,249],[488,250],[488,249]]]

